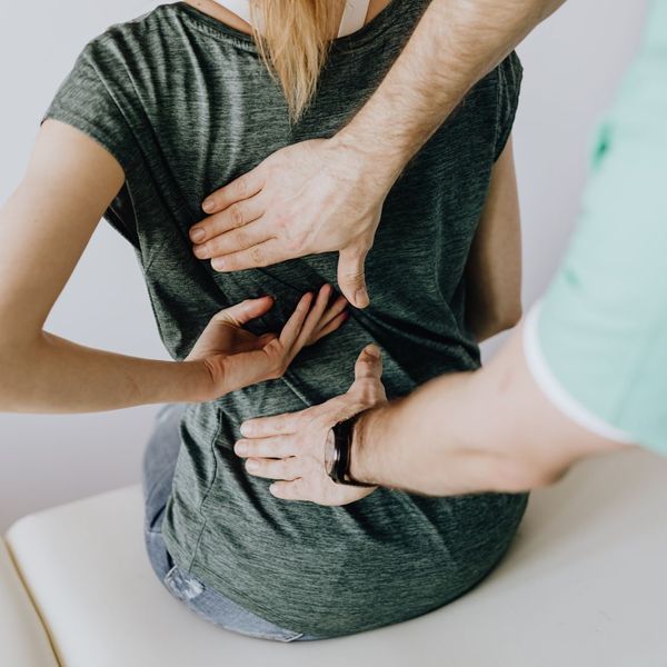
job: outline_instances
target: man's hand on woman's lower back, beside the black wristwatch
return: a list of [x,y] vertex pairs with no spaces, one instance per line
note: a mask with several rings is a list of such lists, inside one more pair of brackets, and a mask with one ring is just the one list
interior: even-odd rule
[[246,468],[250,474],[279,480],[270,491],[283,500],[347,505],[369,496],[377,487],[352,487],[331,480],[325,470],[325,442],[338,421],[386,402],[381,377],[380,350],[368,346],[357,359],[355,382],[347,394],[300,412],[243,422],[245,439],[236,444],[236,454],[248,459]]

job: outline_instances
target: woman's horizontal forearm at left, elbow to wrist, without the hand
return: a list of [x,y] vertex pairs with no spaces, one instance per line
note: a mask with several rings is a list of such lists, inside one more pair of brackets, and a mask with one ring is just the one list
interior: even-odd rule
[[92,349],[42,331],[0,346],[0,411],[93,412],[201,400],[199,362],[142,359]]

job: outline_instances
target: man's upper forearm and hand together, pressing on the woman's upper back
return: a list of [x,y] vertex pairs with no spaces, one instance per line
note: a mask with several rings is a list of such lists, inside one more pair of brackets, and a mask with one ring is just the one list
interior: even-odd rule
[[338,135],[287,147],[205,200],[193,251],[203,245],[219,271],[338,251],[341,292],[368,306],[364,263],[391,186],[466,92],[563,2],[432,0]]

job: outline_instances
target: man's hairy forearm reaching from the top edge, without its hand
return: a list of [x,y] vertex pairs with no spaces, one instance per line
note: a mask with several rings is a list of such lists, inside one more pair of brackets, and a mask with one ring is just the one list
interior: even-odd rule
[[468,90],[565,0],[432,0],[385,81],[337,136],[394,180]]

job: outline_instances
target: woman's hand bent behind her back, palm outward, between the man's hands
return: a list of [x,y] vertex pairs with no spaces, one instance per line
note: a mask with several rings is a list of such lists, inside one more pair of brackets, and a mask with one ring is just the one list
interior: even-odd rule
[[332,292],[325,285],[315,302],[311,292],[303,295],[279,336],[243,329],[271,309],[271,297],[248,299],[216,313],[185,360],[201,364],[205,371],[200,400],[281,377],[305,346],[331,334],[348,317],[344,297],[329,305]]

